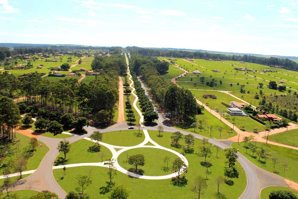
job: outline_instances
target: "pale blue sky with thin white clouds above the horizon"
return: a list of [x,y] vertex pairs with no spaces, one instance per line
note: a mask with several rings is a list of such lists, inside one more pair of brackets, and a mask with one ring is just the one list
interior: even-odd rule
[[298,0],[0,0],[0,43],[298,56]]

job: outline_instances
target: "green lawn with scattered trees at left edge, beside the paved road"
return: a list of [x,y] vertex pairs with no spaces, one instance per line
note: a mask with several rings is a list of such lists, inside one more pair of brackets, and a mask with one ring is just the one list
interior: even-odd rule
[[[14,148],[19,149],[19,150],[17,150],[17,155],[19,157],[21,152],[23,151],[23,149],[25,147],[29,146],[30,138],[28,136],[20,134],[18,132],[16,132],[15,134],[16,134],[16,138],[14,139],[14,142],[12,143],[12,145],[10,145],[10,147],[12,149],[14,149]],[[19,140],[19,142],[16,142],[18,140]],[[44,158],[46,153],[49,151],[49,147],[47,147],[46,144],[44,144],[43,142],[38,141],[38,144],[41,144],[42,146],[36,147],[36,151],[34,152],[34,155],[28,159],[27,169],[25,169],[26,171],[37,169],[39,164],[41,163],[42,158]],[[16,160],[16,155],[13,155],[11,158],[12,158],[12,161]],[[5,157],[1,161],[1,167],[0,167],[1,174],[2,174],[5,166],[7,166],[9,163],[10,163],[9,156]],[[12,169],[11,172],[14,173],[15,171]]]

